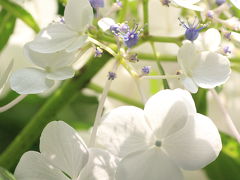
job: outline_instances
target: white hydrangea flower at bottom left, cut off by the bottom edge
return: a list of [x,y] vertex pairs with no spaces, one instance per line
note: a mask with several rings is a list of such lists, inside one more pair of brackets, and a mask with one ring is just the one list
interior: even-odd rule
[[15,170],[17,180],[113,180],[118,160],[109,152],[87,148],[63,121],[43,130],[40,152],[26,152]]

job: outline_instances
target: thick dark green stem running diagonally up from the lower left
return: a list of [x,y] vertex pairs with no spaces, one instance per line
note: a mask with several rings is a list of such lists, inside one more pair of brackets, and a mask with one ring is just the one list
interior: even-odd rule
[[55,115],[61,111],[64,105],[66,105],[76,93],[87,86],[92,77],[97,74],[110,57],[109,54],[104,54],[97,60],[91,58],[74,78],[66,81],[1,154],[0,166],[12,169],[22,154],[28,151],[38,140],[43,128],[50,121],[54,120]]

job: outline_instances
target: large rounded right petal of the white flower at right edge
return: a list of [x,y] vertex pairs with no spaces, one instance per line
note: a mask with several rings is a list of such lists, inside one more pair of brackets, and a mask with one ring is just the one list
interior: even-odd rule
[[214,53],[203,52],[192,78],[202,88],[214,88],[224,84],[231,73],[230,62],[227,57]]

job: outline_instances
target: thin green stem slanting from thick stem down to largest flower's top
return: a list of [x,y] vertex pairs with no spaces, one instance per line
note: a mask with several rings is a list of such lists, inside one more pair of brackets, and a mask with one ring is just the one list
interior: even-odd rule
[[[102,93],[103,92],[103,88],[98,86],[97,84],[94,84],[94,83],[90,83],[87,88],[97,92],[97,93]],[[131,99],[131,98],[128,98],[126,96],[123,96],[121,94],[118,94],[116,92],[113,92],[113,91],[109,91],[108,92],[108,96],[113,98],[113,99],[116,99],[118,101],[121,101],[123,103],[126,103],[128,105],[132,105],[132,106],[137,106],[139,108],[143,108],[144,105],[141,103],[141,102],[138,102],[134,99]]]

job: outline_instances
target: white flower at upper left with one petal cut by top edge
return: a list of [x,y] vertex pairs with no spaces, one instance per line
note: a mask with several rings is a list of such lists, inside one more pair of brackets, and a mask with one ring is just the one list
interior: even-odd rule
[[50,24],[29,44],[34,51],[53,53],[81,48],[86,40],[84,34],[93,20],[93,9],[88,0],[69,0],[64,11],[64,23]]

